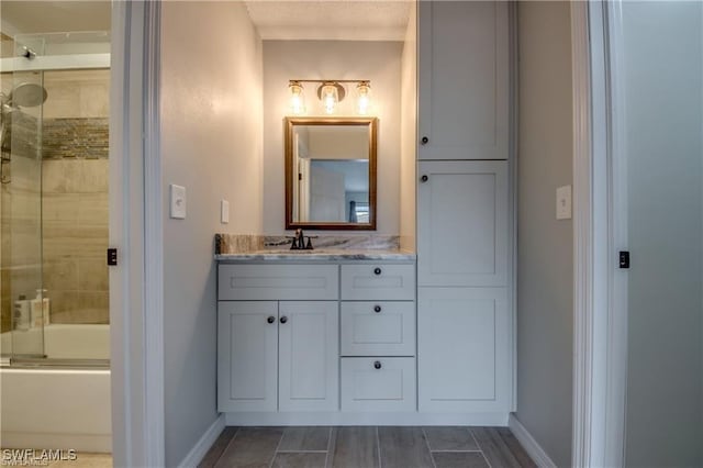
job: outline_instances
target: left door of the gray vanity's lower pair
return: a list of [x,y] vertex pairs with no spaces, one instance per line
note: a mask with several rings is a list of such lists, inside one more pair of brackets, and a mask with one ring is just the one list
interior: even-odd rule
[[217,303],[217,411],[276,411],[278,303]]

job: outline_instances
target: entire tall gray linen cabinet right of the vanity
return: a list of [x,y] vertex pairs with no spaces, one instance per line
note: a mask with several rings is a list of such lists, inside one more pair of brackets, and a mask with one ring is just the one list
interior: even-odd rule
[[509,23],[507,2],[419,2],[419,409],[477,423],[513,406]]

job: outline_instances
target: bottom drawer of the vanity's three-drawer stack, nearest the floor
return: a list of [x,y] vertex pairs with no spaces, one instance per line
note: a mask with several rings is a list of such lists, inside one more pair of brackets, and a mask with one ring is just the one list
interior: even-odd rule
[[342,358],[342,411],[415,411],[415,358]]

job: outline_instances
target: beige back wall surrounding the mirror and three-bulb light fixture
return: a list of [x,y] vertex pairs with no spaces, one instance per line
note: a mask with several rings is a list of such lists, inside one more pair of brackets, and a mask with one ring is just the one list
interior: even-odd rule
[[[376,233],[399,233],[401,52],[400,42],[264,42],[265,234],[284,231],[283,118],[290,113],[290,79],[371,80],[371,115],[379,118]],[[304,86],[306,115],[323,115],[315,83]],[[356,116],[355,89],[347,90],[350,96],[341,102],[337,115]]]

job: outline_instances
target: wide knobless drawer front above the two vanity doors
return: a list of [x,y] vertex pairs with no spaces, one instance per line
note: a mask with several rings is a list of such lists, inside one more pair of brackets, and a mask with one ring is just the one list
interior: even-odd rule
[[220,265],[221,301],[337,300],[337,265]]

